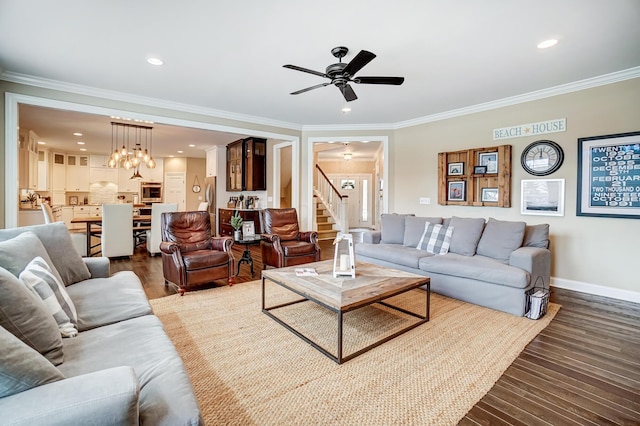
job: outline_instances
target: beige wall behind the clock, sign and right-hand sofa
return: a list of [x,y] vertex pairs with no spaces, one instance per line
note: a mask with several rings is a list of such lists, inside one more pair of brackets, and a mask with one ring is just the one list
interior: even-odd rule
[[[555,118],[567,119],[566,132],[500,141],[492,137],[495,128]],[[399,129],[391,149],[391,211],[549,223],[555,285],[640,301],[640,220],[576,216],[577,139],[638,130],[640,79]],[[538,139],[553,140],[564,150],[564,164],[548,176],[566,180],[564,217],[520,214],[520,181],[535,178],[522,169],[520,154]],[[513,146],[511,208],[437,204],[439,152],[503,144]],[[418,204],[419,197],[430,197],[432,204]]]

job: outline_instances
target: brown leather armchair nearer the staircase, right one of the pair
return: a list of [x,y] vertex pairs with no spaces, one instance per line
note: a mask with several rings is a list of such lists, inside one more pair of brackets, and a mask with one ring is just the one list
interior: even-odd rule
[[262,269],[318,262],[320,246],[318,233],[300,232],[296,209],[264,209],[260,212],[262,224]]

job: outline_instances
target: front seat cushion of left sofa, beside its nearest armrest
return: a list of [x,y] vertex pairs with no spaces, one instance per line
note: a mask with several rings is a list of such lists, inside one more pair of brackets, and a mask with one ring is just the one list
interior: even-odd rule
[[184,364],[155,315],[87,330],[64,339],[64,345],[59,369],[66,377],[133,367],[140,382],[141,425],[202,424]]

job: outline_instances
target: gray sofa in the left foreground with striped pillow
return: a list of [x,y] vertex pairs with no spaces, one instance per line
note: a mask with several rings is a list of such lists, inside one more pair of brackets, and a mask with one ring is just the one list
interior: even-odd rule
[[[63,313],[54,315],[51,299],[35,291],[64,295],[51,275],[68,295],[56,299]],[[33,276],[49,281],[29,287]],[[77,335],[63,338],[71,306]],[[110,276],[108,258],[81,258],[64,223],[0,230],[0,348],[4,425],[203,423],[182,360],[138,277]]]

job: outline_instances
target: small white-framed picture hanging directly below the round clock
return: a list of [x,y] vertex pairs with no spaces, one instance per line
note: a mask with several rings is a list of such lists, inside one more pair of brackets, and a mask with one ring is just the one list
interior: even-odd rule
[[520,214],[564,216],[564,179],[523,179]]

